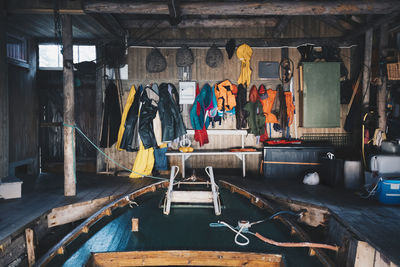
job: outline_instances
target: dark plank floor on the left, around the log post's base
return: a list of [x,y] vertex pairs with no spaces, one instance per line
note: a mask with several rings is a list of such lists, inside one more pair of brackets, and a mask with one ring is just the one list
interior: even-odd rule
[[[63,176],[41,174],[31,188],[24,188],[20,199],[0,199],[0,244],[7,237],[51,209],[107,196],[124,195],[158,180],[107,175],[77,175],[77,195],[64,197]],[[26,190],[25,190],[26,189]]]

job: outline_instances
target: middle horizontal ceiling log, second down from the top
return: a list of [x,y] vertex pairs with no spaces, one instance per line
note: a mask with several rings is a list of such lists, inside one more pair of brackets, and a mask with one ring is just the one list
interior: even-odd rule
[[[168,28],[170,23],[167,20],[123,20],[121,24],[124,28]],[[277,25],[275,18],[257,19],[184,19],[176,25],[177,28],[236,28],[236,27],[265,27],[273,28]]]

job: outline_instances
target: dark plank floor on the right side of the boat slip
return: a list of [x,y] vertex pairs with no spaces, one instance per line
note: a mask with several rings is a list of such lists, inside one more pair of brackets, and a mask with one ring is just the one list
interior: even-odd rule
[[355,193],[326,186],[294,182],[224,178],[250,192],[289,202],[302,202],[328,208],[359,240],[366,241],[400,266],[400,206],[380,204]]

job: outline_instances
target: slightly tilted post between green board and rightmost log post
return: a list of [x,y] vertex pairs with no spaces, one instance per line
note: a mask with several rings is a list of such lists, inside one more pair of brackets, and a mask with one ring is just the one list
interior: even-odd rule
[[365,32],[364,45],[364,68],[363,68],[363,106],[369,105],[369,84],[371,82],[371,58],[372,58],[372,37],[374,30],[371,28]]

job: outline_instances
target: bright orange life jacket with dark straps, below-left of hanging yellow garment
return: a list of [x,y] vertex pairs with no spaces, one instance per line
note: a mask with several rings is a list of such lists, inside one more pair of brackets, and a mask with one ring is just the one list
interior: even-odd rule
[[215,87],[218,110],[230,111],[236,106],[237,86],[225,80]]

